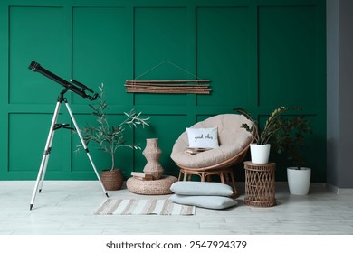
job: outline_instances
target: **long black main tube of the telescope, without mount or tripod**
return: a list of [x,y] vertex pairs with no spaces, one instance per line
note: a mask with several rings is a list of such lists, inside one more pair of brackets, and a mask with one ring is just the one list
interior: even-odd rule
[[97,96],[89,96],[84,92],[84,89],[80,89],[76,86],[74,86],[72,83],[68,82],[67,80],[63,80],[62,78],[58,77],[57,75],[53,74],[49,70],[45,70],[39,63],[32,61],[31,64],[29,65],[28,69],[33,70],[34,72],[39,72],[46,76],[47,78],[61,84],[63,87],[66,89],[71,89],[73,92],[76,94],[80,95],[82,98],[89,98],[91,100],[94,100],[97,98]]

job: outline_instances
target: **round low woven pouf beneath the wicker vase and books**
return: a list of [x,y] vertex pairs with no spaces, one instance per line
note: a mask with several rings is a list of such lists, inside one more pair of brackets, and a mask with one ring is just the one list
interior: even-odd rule
[[163,176],[158,180],[139,180],[130,177],[126,182],[130,192],[143,195],[166,195],[172,194],[170,186],[177,181],[176,177],[171,175]]

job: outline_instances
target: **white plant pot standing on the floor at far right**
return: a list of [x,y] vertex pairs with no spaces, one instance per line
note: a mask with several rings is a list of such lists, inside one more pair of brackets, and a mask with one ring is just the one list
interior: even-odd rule
[[301,167],[287,168],[288,186],[293,195],[307,195],[310,188],[311,169]]

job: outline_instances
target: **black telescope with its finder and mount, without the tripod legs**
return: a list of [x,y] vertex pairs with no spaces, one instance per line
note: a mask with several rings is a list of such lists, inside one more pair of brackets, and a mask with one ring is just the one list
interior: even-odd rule
[[[34,72],[39,72],[41,74],[43,74],[43,76],[46,76],[47,78],[61,84],[63,87],[65,87],[65,89],[63,90],[63,93],[65,93],[67,90],[72,90],[74,93],[78,94],[81,96],[81,98],[84,99],[90,99],[95,100],[98,97],[98,93],[94,93],[93,90],[91,90],[90,88],[88,88],[87,86],[85,86],[84,84],[82,84],[81,82],[77,81],[77,80],[63,80],[62,78],[58,77],[57,75],[53,74],[51,71],[49,70],[45,70],[41,64],[32,61],[31,64],[29,65],[28,69],[33,70]],[[85,90],[90,91],[91,93],[94,93],[93,96],[86,94]]]

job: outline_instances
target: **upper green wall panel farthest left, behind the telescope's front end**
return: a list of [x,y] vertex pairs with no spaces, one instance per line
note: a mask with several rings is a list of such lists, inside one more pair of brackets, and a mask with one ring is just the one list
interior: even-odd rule
[[9,100],[14,104],[43,104],[56,84],[28,70],[31,61],[64,72],[65,43],[62,7],[9,8]]

